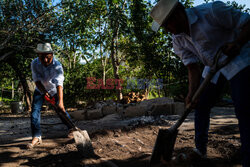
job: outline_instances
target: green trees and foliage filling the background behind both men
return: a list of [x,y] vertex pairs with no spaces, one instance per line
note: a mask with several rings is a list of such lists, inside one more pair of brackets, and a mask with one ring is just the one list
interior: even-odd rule
[[[86,89],[87,77],[119,77],[123,93],[145,91],[126,89],[127,79],[162,79],[163,89],[151,88],[150,97],[185,96],[187,70],[173,53],[170,34],[151,30],[149,13],[157,1],[62,0],[53,6],[50,0],[0,0],[0,85],[30,79],[33,49],[51,42],[64,67],[67,105],[116,97],[115,89]],[[193,0],[181,2],[193,6]],[[235,1],[230,5],[249,12]]]

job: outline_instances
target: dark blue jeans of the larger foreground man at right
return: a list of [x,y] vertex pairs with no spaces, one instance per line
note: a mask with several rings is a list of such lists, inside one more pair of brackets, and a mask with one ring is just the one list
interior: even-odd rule
[[[218,100],[226,79],[210,83],[202,93],[195,111],[195,145],[203,154],[207,152],[210,110]],[[239,121],[243,166],[250,167],[250,66],[240,71],[230,81],[235,114]]]

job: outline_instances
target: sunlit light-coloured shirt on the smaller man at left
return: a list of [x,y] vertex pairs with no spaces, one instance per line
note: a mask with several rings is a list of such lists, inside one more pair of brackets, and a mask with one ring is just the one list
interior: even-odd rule
[[[63,68],[61,63],[55,58],[53,58],[52,63],[48,67],[42,65],[39,58],[35,58],[31,63],[31,71],[33,81],[41,81],[51,96],[57,93],[57,86],[63,87]],[[39,91],[38,88],[36,90]]]

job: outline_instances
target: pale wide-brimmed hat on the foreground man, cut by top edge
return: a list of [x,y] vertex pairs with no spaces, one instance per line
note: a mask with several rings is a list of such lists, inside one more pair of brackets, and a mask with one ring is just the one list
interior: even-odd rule
[[150,16],[154,19],[152,30],[157,32],[164,21],[178,4],[178,0],[161,0],[151,10]]

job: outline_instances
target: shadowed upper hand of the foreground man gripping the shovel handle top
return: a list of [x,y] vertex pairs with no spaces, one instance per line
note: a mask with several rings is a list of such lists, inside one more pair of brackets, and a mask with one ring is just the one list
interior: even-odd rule
[[241,46],[238,42],[229,42],[222,46],[222,52],[229,58],[234,58],[240,54]]

